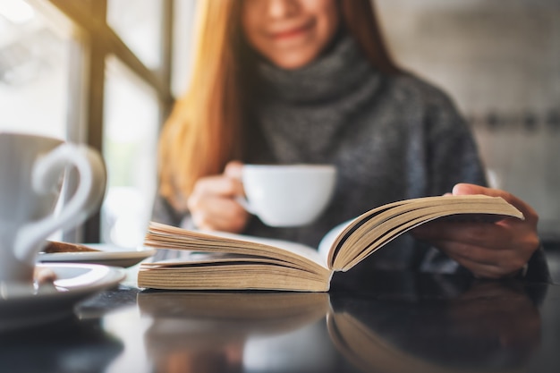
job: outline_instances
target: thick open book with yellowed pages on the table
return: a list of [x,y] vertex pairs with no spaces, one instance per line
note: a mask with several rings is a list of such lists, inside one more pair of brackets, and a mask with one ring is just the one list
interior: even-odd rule
[[438,219],[489,220],[522,213],[499,197],[438,196],[380,206],[331,230],[318,250],[294,242],[188,231],[150,223],[144,245],[192,255],[142,263],[138,285],[155,289],[327,292],[348,271],[397,236]]

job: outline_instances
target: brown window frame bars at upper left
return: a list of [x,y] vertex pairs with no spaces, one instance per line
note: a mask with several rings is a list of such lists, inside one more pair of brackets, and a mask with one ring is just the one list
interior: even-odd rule
[[[161,1],[161,32],[159,51],[161,64],[149,69],[107,23],[107,0],[28,0],[47,19],[56,21],[60,15],[70,22],[70,69],[66,131],[68,140],[85,143],[103,154],[104,100],[106,57],[114,55],[157,95],[159,128],[174,103],[171,87],[174,0]],[[70,177],[67,191],[77,183]],[[64,232],[67,242],[100,242],[100,212],[80,227]]]

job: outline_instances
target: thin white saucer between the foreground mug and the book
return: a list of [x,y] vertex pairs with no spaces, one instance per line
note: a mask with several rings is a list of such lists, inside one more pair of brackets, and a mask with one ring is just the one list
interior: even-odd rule
[[155,249],[140,246],[137,249],[122,248],[108,243],[83,243],[99,251],[39,253],[39,262],[88,263],[114,267],[131,267],[156,253]]

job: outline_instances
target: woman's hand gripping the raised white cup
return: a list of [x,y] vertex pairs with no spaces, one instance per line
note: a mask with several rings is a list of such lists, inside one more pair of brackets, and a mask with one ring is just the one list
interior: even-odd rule
[[249,213],[235,200],[243,195],[242,163],[225,165],[224,174],[199,179],[187,206],[192,221],[199,229],[242,232],[249,221]]

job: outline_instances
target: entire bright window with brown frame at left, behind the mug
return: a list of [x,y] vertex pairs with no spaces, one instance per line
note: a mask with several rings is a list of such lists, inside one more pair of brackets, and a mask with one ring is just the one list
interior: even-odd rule
[[0,2],[0,130],[88,143],[106,160],[99,214],[64,232],[65,241],[143,239],[157,135],[173,103],[173,7],[174,0]]

